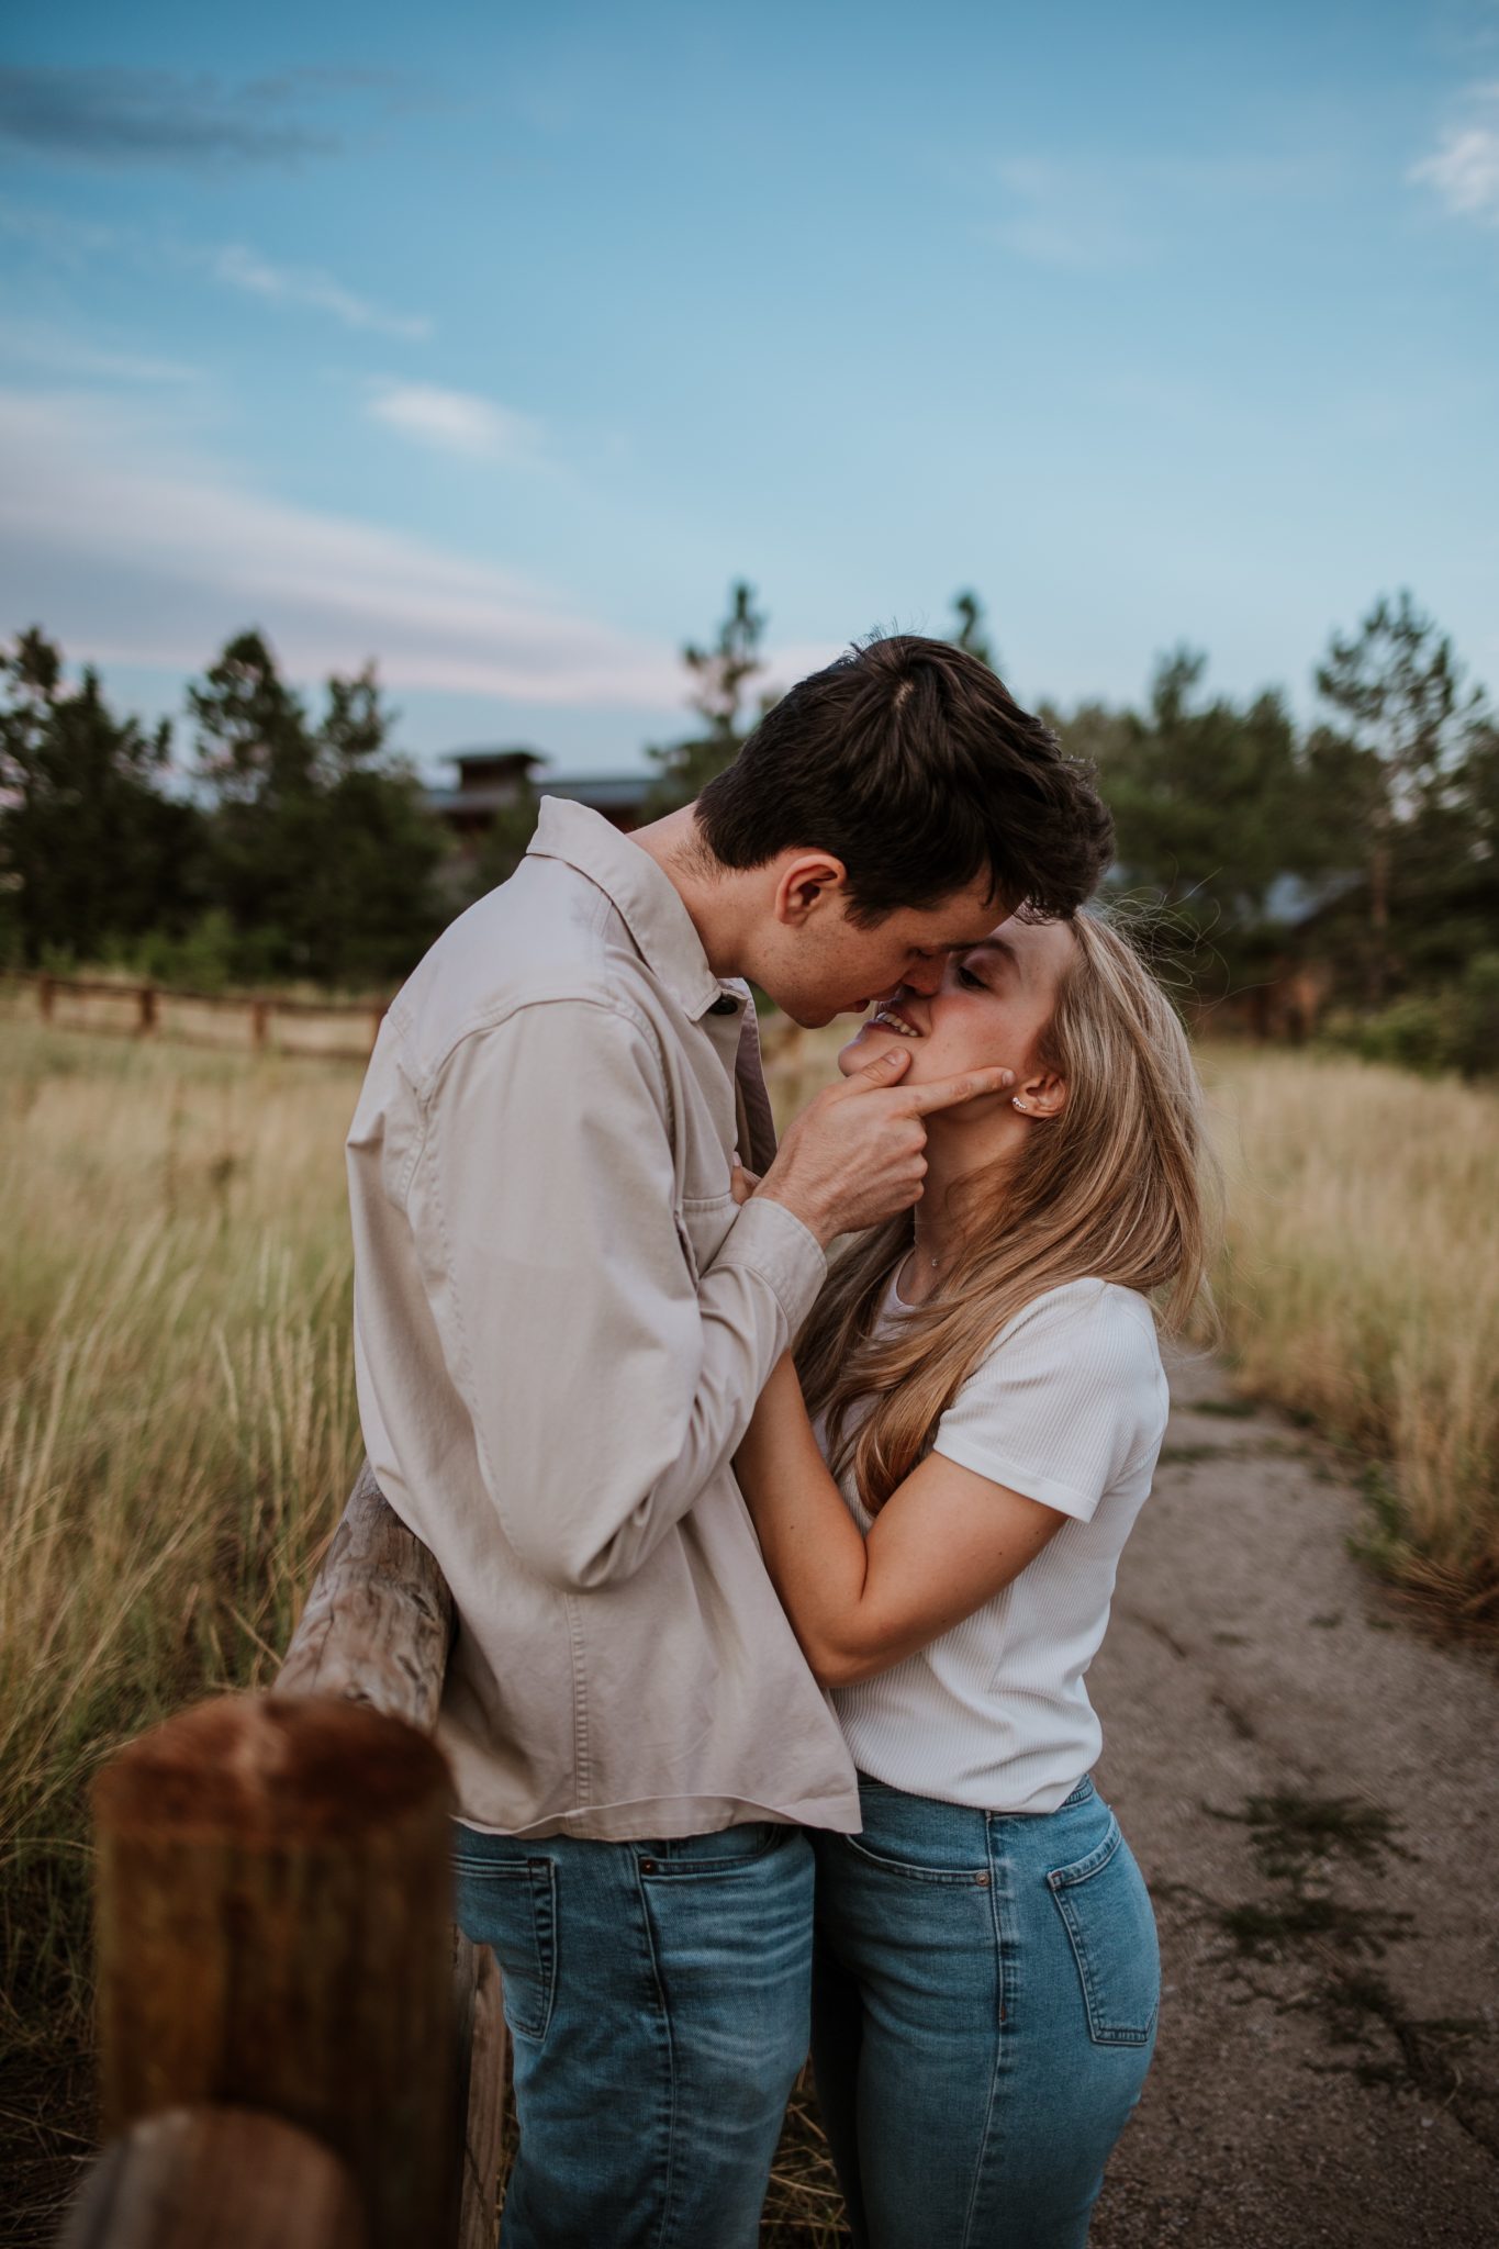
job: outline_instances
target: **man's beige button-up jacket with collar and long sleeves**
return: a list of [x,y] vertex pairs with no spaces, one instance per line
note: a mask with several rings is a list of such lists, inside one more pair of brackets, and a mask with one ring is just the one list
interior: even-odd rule
[[438,1738],[474,1826],[858,1828],[730,1466],[825,1273],[789,1210],[733,1201],[757,1118],[744,985],[654,859],[544,798],[391,1005],[348,1133],[360,1417],[454,1592]]

